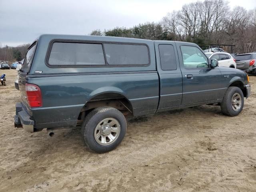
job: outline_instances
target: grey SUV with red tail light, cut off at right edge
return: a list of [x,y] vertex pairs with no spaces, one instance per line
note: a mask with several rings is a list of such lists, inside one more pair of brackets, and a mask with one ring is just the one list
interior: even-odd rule
[[234,56],[236,68],[250,74],[256,74],[256,53],[238,54]]

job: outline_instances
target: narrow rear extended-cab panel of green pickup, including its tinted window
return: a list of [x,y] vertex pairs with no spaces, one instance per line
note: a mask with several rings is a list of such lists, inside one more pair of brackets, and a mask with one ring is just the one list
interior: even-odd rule
[[[156,65],[160,77],[158,109],[168,110],[182,102],[182,74],[175,42],[155,41]],[[161,111],[162,111],[161,110]]]

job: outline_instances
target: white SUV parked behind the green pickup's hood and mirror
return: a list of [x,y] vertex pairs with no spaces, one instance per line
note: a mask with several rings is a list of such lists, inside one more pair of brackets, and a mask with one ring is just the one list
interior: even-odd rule
[[205,52],[210,59],[217,59],[220,67],[236,68],[236,60],[226,52]]

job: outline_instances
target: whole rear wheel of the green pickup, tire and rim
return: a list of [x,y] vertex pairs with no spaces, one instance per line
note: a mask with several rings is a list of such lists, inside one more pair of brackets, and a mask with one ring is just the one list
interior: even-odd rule
[[113,107],[99,107],[86,116],[81,128],[87,147],[95,152],[104,153],[120,144],[126,134],[126,119]]

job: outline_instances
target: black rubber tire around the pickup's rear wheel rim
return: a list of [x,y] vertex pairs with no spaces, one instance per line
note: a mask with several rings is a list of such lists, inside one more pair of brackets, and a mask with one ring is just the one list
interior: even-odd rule
[[[100,121],[105,118],[114,118],[120,124],[120,133],[116,140],[107,146],[101,145],[96,142],[94,138],[94,131]],[[92,110],[85,118],[81,127],[82,138],[86,146],[97,153],[104,153],[113,150],[120,144],[126,134],[126,119],[124,115],[113,107],[99,107]]]

